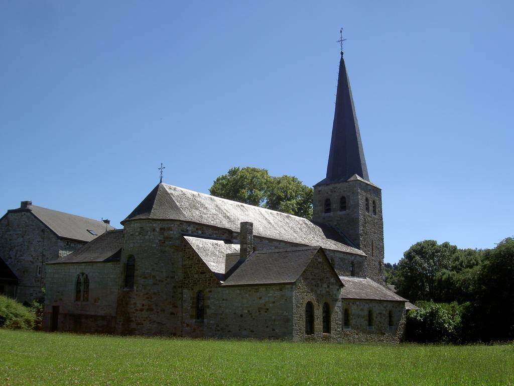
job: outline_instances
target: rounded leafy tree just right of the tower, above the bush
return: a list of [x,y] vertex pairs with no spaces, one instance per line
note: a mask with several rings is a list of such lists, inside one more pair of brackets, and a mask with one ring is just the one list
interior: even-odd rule
[[411,302],[433,300],[435,277],[441,270],[450,268],[451,256],[456,251],[455,245],[437,244],[435,240],[412,245],[398,262],[397,293]]

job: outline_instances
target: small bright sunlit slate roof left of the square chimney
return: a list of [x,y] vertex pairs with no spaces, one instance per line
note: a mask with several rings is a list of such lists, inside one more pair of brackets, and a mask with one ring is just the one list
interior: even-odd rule
[[218,280],[225,278],[225,261],[227,253],[239,253],[239,244],[226,244],[223,240],[184,236],[195,252],[204,260]]

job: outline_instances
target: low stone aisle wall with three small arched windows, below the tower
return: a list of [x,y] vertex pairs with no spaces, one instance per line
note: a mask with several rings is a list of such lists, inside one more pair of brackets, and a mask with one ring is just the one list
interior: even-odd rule
[[[350,311],[350,328],[343,327],[343,342],[392,342],[403,340],[405,334],[405,303],[377,300],[343,299],[342,312]],[[368,311],[373,326],[368,326]],[[389,326],[389,311],[393,326]],[[344,321],[341,319],[341,323]]]

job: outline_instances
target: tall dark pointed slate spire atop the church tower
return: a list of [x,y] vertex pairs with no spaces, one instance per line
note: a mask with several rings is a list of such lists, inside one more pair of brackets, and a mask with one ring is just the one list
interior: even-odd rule
[[357,174],[366,181],[368,167],[364,159],[362,141],[360,139],[357,114],[353,104],[350,80],[346,73],[343,52],[339,62],[339,79],[337,81],[336,111],[334,113],[334,125],[332,127],[332,142],[326,168],[326,178],[316,185],[331,184],[346,181]]

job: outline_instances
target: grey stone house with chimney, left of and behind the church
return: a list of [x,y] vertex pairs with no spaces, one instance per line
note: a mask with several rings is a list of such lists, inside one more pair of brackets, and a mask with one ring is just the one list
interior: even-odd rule
[[[75,216],[22,201],[0,218],[0,293],[20,302],[43,296],[45,262],[78,250],[106,230],[108,220]],[[10,271],[10,273],[9,273]]]

